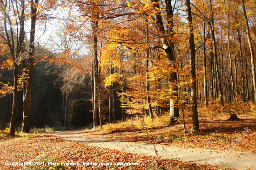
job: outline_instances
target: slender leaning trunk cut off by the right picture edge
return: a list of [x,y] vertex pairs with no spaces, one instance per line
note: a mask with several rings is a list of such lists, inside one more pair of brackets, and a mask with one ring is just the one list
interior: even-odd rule
[[256,75],[255,75],[254,50],[252,48],[249,24],[248,24],[247,14],[246,14],[245,6],[244,6],[244,0],[241,0],[241,3],[242,3],[242,7],[243,7],[243,18],[244,18],[244,23],[245,23],[245,28],[246,28],[245,31],[246,31],[246,36],[247,36],[250,55],[251,55],[252,82],[253,82],[253,88],[254,88],[254,98],[256,101],[256,77],[255,77]]

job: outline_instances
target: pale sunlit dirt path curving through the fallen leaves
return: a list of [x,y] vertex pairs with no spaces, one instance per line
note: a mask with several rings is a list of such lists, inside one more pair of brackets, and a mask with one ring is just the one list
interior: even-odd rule
[[[196,164],[212,163],[213,165],[234,169],[247,170],[250,168],[252,170],[256,170],[256,153],[252,152],[231,151],[229,155],[224,154],[225,156],[222,158],[222,151],[88,138],[85,136],[86,133],[82,131],[83,130],[72,130],[51,133],[65,139],[82,142],[88,145],[116,149],[139,155],[152,157],[157,157],[158,155],[158,157],[161,158],[176,159],[184,162],[194,162]],[[157,155],[155,150],[157,151]],[[220,162],[217,163],[216,160]]]

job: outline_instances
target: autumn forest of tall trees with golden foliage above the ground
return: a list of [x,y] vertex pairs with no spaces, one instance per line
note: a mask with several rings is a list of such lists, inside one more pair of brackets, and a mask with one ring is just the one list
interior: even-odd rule
[[[11,138],[88,128],[190,147],[201,133],[255,134],[256,0],[0,0],[0,18]],[[176,126],[179,138],[163,130]],[[223,136],[222,149],[236,139]]]

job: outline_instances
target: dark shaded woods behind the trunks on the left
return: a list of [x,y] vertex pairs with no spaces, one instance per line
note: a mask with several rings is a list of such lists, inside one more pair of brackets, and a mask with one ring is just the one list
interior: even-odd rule
[[[11,70],[3,70],[0,73],[0,82],[12,83]],[[46,61],[34,65],[33,88],[31,97],[31,127],[64,126],[66,96],[61,91],[61,80],[58,76],[60,70]],[[84,82],[88,84],[88,82]],[[93,122],[92,103],[90,101],[91,89],[88,86],[76,88],[67,99],[67,125],[86,126]],[[8,127],[12,114],[13,94],[7,94],[0,98],[0,130]],[[17,127],[22,124],[22,93],[19,94],[19,111]],[[62,109],[62,107],[64,107]],[[63,115],[62,115],[63,110]],[[62,116],[62,119],[61,119]],[[62,120],[62,122],[61,122]]]

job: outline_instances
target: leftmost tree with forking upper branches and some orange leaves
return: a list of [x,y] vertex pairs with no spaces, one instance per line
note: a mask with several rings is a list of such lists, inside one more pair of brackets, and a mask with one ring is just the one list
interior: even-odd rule
[[[15,135],[15,121],[18,113],[18,95],[21,89],[21,83],[19,82],[18,76],[18,61],[21,56],[21,50],[24,44],[24,11],[25,2],[24,0],[12,2],[9,0],[0,1],[1,12],[3,13],[3,25],[4,31],[1,32],[1,38],[3,43],[7,44],[9,49],[9,54],[11,56],[11,62],[6,62],[8,67],[13,71],[13,108],[12,108],[12,118],[10,121],[9,133]],[[11,17],[14,15],[14,17]],[[19,22],[18,22],[18,21]],[[15,62],[14,62],[15,61]],[[22,79],[25,75],[22,76]]]

